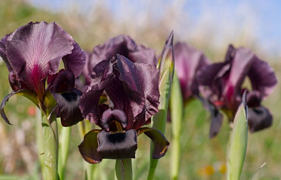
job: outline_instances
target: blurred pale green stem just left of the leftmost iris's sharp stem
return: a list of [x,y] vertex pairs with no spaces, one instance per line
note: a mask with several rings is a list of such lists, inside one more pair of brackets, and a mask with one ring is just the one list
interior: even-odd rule
[[36,119],[36,145],[37,145],[37,153],[38,153],[38,161],[41,167],[42,177],[45,180],[45,166],[44,166],[44,134],[42,131],[42,120],[41,118],[41,111],[37,110],[37,117]]

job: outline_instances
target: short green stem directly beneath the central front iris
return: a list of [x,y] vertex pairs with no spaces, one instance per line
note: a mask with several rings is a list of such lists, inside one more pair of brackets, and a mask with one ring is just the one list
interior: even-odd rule
[[116,159],[115,174],[118,180],[132,180],[132,159]]

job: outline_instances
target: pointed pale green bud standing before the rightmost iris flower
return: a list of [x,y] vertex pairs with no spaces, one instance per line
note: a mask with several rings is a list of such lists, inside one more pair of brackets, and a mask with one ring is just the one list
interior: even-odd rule
[[239,180],[246,156],[248,139],[248,107],[246,92],[234,118],[227,164],[227,179]]

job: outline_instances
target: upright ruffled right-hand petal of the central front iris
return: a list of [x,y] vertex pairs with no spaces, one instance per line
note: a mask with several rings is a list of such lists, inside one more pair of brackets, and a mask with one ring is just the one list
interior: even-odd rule
[[[117,54],[117,69],[125,91],[133,100],[133,112],[141,113],[143,102],[145,107],[145,120],[158,112],[159,87],[157,68],[144,63],[132,63],[126,57]],[[135,115],[135,113],[134,113]]]

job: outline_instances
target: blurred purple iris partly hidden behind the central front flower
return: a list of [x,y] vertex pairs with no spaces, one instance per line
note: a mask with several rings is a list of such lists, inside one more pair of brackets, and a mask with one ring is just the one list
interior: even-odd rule
[[[91,83],[91,73],[96,64],[116,56],[116,54],[125,56],[134,63],[148,63],[154,67],[156,67],[157,64],[155,50],[141,44],[136,44],[128,35],[119,35],[94,47],[91,53],[86,53],[86,66],[82,71],[86,80],[86,85]],[[78,87],[83,87],[81,81],[78,79],[76,80],[76,85]]]

